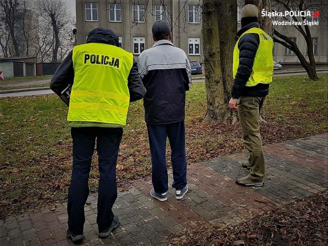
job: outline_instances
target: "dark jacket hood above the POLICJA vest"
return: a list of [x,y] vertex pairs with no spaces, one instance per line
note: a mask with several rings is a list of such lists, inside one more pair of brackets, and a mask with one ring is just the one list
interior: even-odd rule
[[87,38],[88,43],[101,43],[119,47],[118,36],[111,29],[102,27],[94,28],[89,32]]

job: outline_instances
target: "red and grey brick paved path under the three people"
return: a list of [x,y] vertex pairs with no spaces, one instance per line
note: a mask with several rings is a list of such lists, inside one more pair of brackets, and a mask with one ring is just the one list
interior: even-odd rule
[[[119,192],[113,212],[120,227],[111,237],[96,237],[97,196],[85,206],[86,240],[80,245],[167,245],[191,227],[239,223],[250,213],[310,196],[328,188],[328,135],[318,135],[265,147],[266,180],[263,187],[237,186],[234,179],[247,173],[241,167],[247,153],[224,156],[188,166],[189,192],[182,200],[169,190],[166,202],[149,196],[151,182]],[[171,183],[172,176],[169,180]],[[0,220],[0,245],[71,245],[65,239],[66,204]]]

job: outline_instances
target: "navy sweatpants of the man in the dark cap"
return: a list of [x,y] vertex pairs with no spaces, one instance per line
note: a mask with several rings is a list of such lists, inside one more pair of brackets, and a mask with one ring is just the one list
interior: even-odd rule
[[168,191],[168,174],[166,166],[166,139],[169,138],[175,189],[187,185],[186,133],[184,121],[177,123],[153,125],[147,124],[150,154],[152,158],[152,181],[157,193]]

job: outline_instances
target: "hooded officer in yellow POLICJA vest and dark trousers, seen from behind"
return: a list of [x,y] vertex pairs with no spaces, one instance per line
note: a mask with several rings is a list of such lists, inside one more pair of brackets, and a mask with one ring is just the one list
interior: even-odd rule
[[67,120],[73,139],[73,169],[68,195],[67,237],[84,239],[84,205],[95,141],[99,161],[97,224],[99,237],[118,226],[112,212],[117,198],[116,161],[129,102],[144,97],[133,54],[119,47],[112,30],[95,28],[87,43],[73,48],[51,80],[58,95],[72,84]]

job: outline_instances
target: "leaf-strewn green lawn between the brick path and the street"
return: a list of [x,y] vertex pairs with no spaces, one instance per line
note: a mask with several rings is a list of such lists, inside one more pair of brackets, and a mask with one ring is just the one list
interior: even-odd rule
[[[327,131],[328,75],[318,75],[316,82],[305,76],[274,78],[264,105],[264,144]],[[205,85],[194,83],[186,104],[188,163],[243,151],[239,124],[205,124],[205,112]],[[130,105],[117,165],[119,189],[151,172],[143,113],[142,101]],[[0,99],[0,218],[66,199],[72,168],[66,115],[67,107],[55,95]],[[95,155],[91,192],[97,180]]]

